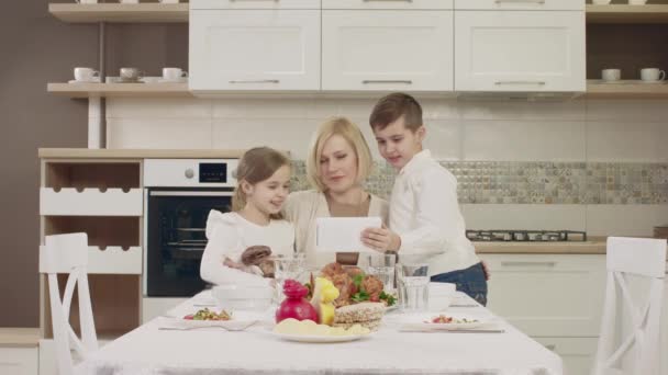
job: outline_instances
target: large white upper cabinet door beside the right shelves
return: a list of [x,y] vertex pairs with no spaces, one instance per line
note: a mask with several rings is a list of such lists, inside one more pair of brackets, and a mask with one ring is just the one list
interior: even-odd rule
[[584,91],[584,12],[456,11],[456,91]]

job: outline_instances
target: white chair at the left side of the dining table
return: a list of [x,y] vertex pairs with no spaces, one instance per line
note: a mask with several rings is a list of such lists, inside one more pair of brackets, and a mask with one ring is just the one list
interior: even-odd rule
[[[73,346],[81,359],[86,359],[98,349],[88,288],[87,264],[88,236],[86,234],[46,236],[45,246],[41,247],[40,251],[40,272],[47,274],[48,277],[52,327],[56,362],[60,375],[74,373]],[[60,299],[58,286],[59,273],[69,274],[63,299]],[[77,284],[81,339],[77,337],[69,323],[69,309]]]

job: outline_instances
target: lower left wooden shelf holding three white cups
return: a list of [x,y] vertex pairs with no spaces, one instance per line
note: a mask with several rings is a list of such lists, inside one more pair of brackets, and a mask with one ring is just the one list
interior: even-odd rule
[[46,91],[69,98],[192,96],[188,83],[48,83]]

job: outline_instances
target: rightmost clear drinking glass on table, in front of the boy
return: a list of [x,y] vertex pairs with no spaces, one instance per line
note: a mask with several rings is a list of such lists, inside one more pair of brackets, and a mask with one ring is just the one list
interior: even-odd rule
[[397,264],[399,300],[402,310],[408,312],[425,311],[430,306],[430,275],[426,263]]

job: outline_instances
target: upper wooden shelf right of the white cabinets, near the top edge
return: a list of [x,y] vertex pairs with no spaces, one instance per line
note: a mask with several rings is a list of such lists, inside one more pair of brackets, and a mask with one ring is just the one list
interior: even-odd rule
[[587,5],[587,23],[668,23],[668,5]]

